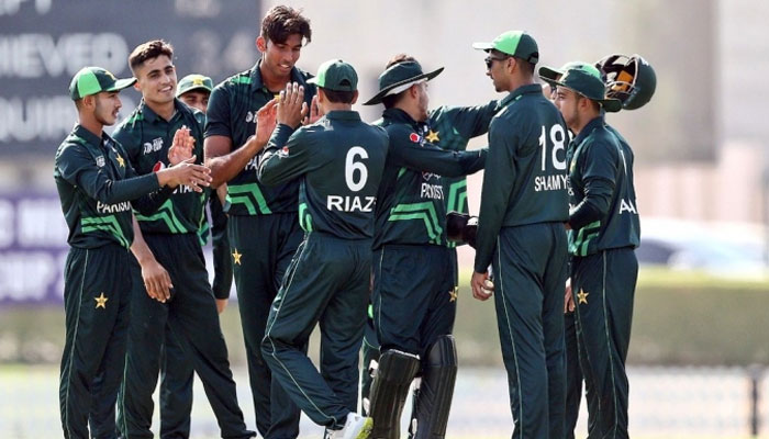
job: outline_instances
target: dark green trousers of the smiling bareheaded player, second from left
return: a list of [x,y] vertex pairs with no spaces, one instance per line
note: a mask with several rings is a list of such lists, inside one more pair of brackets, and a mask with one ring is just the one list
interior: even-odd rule
[[132,322],[118,428],[125,439],[153,437],[149,430],[154,410],[152,395],[168,326],[203,383],[222,438],[253,437],[237,405],[227,348],[197,234],[146,234],[144,239],[168,271],[174,289],[167,303],[149,297],[141,281],[138,264],[132,263],[136,288],[131,301]]

